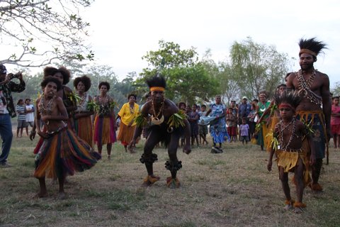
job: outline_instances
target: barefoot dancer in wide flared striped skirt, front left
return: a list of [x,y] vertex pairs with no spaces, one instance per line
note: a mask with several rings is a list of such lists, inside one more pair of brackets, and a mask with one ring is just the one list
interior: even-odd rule
[[[57,91],[62,87],[54,77],[45,77],[41,83],[43,94],[37,100],[38,111],[35,118],[38,135],[44,140],[35,157],[34,176],[39,179],[40,192],[35,196],[47,196],[45,177],[59,179],[59,198],[64,199],[64,180],[75,171],[93,167],[101,158],[72,130],[67,128],[67,110]],[[40,119],[45,123],[46,132],[40,130]]]

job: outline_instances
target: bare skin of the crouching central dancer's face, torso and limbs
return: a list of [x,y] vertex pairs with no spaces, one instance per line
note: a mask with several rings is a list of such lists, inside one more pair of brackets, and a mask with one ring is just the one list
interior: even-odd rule
[[[177,106],[174,104],[173,101],[169,100],[169,99],[165,99],[164,97],[164,92],[162,91],[153,91],[151,92],[151,97],[152,97],[152,101],[148,101],[142,109],[142,116],[144,116],[145,118],[147,118],[147,116],[150,114],[151,116],[153,115],[153,111],[152,111],[152,102],[154,104],[154,111],[156,113],[159,112],[159,110],[161,109],[162,105],[164,104],[164,109],[162,111],[162,114],[164,116],[164,122],[162,124],[166,124],[169,121],[170,116],[172,116],[173,114],[176,114],[179,112],[179,109],[177,108]],[[161,114],[159,115],[159,118],[161,118]],[[188,120],[184,120],[185,123],[185,127],[184,127],[184,135],[186,137],[186,144],[183,147],[183,152],[186,154],[191,153],[191,145],[190,145],[190,137],[191,137],[191,133],[190,133],[190,125]],[[149,137],[147,138],[147,140],[145,141],[145,146],[144,146],[144,155],[145,157],[150,157],[152,155],[152,150],[154,150],[154,146],[157,145],[161,140],[163,140],[164,138],[162,138],[162,133],[165,132],[161,132],[159,133],[159,130],[162,127],[158,127],[158,126],[152,126],[152,131],[149,134]],[[163,130],[163,128],[162,128]],[[165,128],[166,130],[166,128]],[[136,130],[135,130],[135,134],[132,138],[132,141],[129,145],[129,148],[132,148],[133,146],[135,146],[137,138],[140,137],[142,133],[142,126],[137,126]],[[178,162],[177,159],[177,148],[179,147],[179,139],[181,138],[180,133],[171,133],[171,139],[168,145],[168,154],[169,154],[169,159],[171,162]],[[145,167],[147,168],[147,174],[150,177],[154,177],[159,179],[159,177],[155,177],[154,176],[154,170],[153,170],[153,166],[152,164],[145,164]],[[177,171],[171,171],[171,177],[172,179],[176,179],[176,172]]]

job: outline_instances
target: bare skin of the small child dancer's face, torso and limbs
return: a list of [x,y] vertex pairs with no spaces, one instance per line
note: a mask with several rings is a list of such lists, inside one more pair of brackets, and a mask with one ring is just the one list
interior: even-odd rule
[[[283,126],[288,126],[288,124],[292,121],[293,116],[295,116],[295,111],[293,109],[283,107],[280,108],[280,118],[283,120]],[[310,165],[314,165],[315,163],[315,149],[314,149],[314,143],[310,143],[312,141],[312,137],[309,133],[306,133],[307,129],[305,125],[299,121],[295,120],[296,128],[295,128],[295,135],[293,136],[289,148],[292,150],[298,150],[302,147],[302,137],[304,135],[307,136],[308,143],[310,144]],[[279,134],[280,128],[278,125],[276,125],[275,132],[276,135]],[[290,124],[287,128],[283,130],[283,144],[287,144],[290,140],[291,133],[293,131],[293,123]],[[267,169],[268,171],[271,171],[271,167],[273,165],[273,155],[274,150],[271,148],[271,152],[268,159],[268,165]],[[294,167],[294,178],[296,182],[296,194],[297,194],[297,201],[302,202],[302,196],[303,196],[303,189],[305,187],[303,182],[303,170],[304,165],[299,157],[297,160],[297,165]],[[280,173],[280,180],[283,187],[283,193],[285,194],[285,198],[288,201],[291,201],[292,198],[290,196],[290,188],[288,184],[288,172],[285,172],[283,167],[278,167],[278,171]]]

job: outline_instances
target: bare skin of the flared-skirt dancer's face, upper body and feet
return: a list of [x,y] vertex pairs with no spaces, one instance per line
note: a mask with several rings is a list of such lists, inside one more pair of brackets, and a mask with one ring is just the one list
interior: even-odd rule
[[[62,102],[62,99],[57,94],[57,84],[54,82],[48,82],[46,84],[46,87],[44,88],[44,94],[45,94],[45,104],[50,101],[53,96],[55,96],[55,99],[52,104],[52,113],[50,115],[40,115],[40,100],[37,99],[36,106],[38,108],[37,114],[35,116],[35,124],[38,131],[38,135],[40,135],[42,138],[49,138],[49,135],[45,132],[42,132],[40,130],[40,120],[45,123],[45,127],[47,132],[57,131],[60,127],[63,127],[65,125],[64,121],[67,121],[69,116],[67,115],[67,110],[64,106],[64,103]],[[39,184],[40,184],[40,191],[38,194],[36,194],[35,197],[41,198],[47,196],[47,189],[46,189],[46,182],[45,177],[38,178]],[[64,199],[65,193],[64,193],[64,182],[65,182],[65,176],[61,176],[59,179],[59,197],[60,199]]]

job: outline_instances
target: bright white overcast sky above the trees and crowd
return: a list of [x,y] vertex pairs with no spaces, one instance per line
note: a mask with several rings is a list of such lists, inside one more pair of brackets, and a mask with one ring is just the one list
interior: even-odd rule
[[86,10],[96,63],[113,66],[120,78],[141,72],[141,57],[171,41],[181,48],[210,49],[212,58],[227,60],[234,41],[250,36],[256,43],[275,45],[295,57],[298,70],[300,38],[317,37],[329,50],[315,67],[339,82],[340,1],[95,1]]

